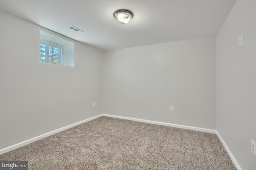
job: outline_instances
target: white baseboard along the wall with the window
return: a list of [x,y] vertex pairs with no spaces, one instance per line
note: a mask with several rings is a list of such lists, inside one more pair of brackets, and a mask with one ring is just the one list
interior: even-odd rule
[[71,127],[75,127],[75,126],[77,126],[77,125],[80,125],[80,124],[82,124],[82,123],[91,121],[91,120],[96,119],[96,118],[101,117],[101,116],[102,116],[102,114],[97,115],[97,116],[94,116],[94,117],[91,117],[91,118],[88,118],[88,119],[85,119],[85,120],[82,120],[82,121],[79,121],[79,122],[77,122],[77,123],[73,123],[73,124],[71,124],[71,125],[62,127],[62,128],[60,128],[60,129],[56,129],[56,130],[51,131],[51,132],[48,132],[48,133],[44,133],[43,135],[39,135],[39,136],[37,136],[37,137],[33,137],[33,138],[31,138],[31,139],[28,139],[28,140],[26,140],[26,141],[17,143],[17,144],[15,144],[15,145],[10,146],[10,147],[6,147],[6,148],[0,150],[0,154],[3,154],[3,153],[5,153],[5,152],[9,152],[10,150],[13,150],[13,149],[17,149],[17,148],[19,148],[19,147],[22,147],[22,146],[24,146],[24,145],[27,145],[27,144],[29,144],[29,143],[32,143],[32,142],[37,141],[37,140],[39,140],[39,139],[42,139],[42,138],[44,138],[44,137],[48,137],[48,136],[53,135],[53,134],[55,134],[55,133],[64,131],[64,130],[69,129],[69,128],[71,128]]

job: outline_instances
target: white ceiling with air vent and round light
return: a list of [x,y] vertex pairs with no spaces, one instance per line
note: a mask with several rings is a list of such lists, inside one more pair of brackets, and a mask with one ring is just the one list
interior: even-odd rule
[[[236,0],[0,0],[0,10],[102,51],[214,36]],[[122,25],[113,13],[128,9]],[[74,25],[85,33],[68,29]]]

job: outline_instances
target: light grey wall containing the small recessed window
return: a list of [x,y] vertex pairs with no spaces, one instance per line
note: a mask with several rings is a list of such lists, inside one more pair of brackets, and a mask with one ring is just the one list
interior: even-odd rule
[[[102,113],[101,51],[2,11],[0,23],[0,149]],[[40,30],[75,43],[75,67],[39,62]]]

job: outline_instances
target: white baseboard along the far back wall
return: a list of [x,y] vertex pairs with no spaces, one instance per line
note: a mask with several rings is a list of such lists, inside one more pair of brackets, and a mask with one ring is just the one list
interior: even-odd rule
[[133,120],[133,121],[139,121],[139,122],[144,122],[144,123],[151,123],[151,124],[156,124],[156,125],[178,127],[178,128],[182,128],[182,129],[189,129],[189,130],[194,130],[194,131],[207,132],[207,133],[215,133],[216,134],[216,130],[213,130],[213,129],[205,129],[205,128],[200,128],[200,127],[177,125],[177,124],[172,124],[172,123],[164,123],[164,122],[159,122],[159,121],[151,121],[151,120],[145,120],[145,119],[136,119],[136,118],[131,118],[131,117],[108,115],[108,114],[102,114],[102,116],[114,117],[114,118],[126,119],[126,120]]

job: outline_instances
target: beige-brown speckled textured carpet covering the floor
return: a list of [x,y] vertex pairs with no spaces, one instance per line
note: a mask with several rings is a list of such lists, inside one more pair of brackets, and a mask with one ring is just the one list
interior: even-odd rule
[[0,155],[29,170],[236,170],[215,134],[99,117]]

